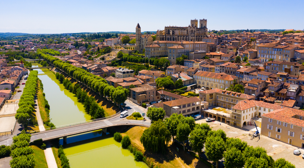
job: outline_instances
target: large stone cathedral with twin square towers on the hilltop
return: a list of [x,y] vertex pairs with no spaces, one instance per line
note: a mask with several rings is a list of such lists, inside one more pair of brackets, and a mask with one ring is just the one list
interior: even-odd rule
[[207,36],[207,19],[191,20],[188,27],[166,26],[157,30],[157,41],[194,41],[201,42]]

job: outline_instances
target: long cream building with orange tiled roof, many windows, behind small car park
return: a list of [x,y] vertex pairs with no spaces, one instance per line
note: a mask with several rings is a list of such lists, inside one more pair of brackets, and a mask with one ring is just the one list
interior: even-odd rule
[[194,75],[194,83],[198,88],[204,86],[206,89],[226,89],[233,84],[233,81],[239,82],[237,76],[226,75],[223,73],[197,71]]

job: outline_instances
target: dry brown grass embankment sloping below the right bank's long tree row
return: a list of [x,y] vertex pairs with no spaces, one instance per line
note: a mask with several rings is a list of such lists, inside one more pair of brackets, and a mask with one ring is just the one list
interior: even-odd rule
[[[53,71],[54,69],[52,69]],[[110,103],[108,100],[105,100],[103,97],[100,97],[98,94],[94,93],[91,89],[87,88],[85,85],[80,82],[68,77],[65,73],[60,72],[64,75],[66,79],[72,82],[73,85],[78,83],[81,89],[87,92],[88,96],[93,96],[96,99],[96,102],[105,110],[105,116],[112,116],[119,112],[119,108],[114,106],[113,103]]]

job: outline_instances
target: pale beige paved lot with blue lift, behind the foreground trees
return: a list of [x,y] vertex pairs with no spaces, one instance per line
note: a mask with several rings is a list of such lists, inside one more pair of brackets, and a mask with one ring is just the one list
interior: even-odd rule
[[[201,118],[195,121],[195,123],[206,123],[206,118]],[[287,143],[283,143],[277,141],[275,139],[268,138],[267,136],[260,136],[259,138],[254,138],[250,140],[249,133],[252,134],[251,130],[248,129],[240,129],[237,127],[230,126],[228,124],[213,121],[208,123],[213,130],[223,129],[226,132],[228,137],[240,138],[243,141],[246,141],[250,146],[261,146],[265,148],[268,152],[269,156],[272,156],[274,160],[279,158],[285,158],[289,162],[295,165],[295,167],[304,168],[304,159],[302,159],[302,154],[304,153],[304,149],[298,149],[301,151],[299,156],[293,154],[293,150],[297,149],[297,147],[289,145]]]

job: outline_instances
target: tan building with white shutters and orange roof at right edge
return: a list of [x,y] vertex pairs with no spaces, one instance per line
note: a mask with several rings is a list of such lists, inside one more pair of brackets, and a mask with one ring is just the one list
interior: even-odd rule
[[262,115],[261,134],[304,148],[304,111],[288,107]]

